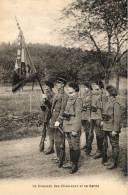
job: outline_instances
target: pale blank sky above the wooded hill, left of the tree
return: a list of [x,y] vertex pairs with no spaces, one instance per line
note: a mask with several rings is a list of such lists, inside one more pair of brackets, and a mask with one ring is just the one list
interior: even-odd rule
[[18,35],[17,17],[27,42],[61,45],[56,32],[61,10],[72,0],[0,0],[0,43]]

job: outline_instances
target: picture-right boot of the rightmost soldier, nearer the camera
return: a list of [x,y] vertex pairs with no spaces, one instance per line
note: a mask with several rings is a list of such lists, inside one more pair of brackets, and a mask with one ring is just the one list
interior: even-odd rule
[[112,162],[110,165],[107,166],[107,169],[115,169],[117,168],[119,158],[119,151],[118,149],[113,149],[112,151]]

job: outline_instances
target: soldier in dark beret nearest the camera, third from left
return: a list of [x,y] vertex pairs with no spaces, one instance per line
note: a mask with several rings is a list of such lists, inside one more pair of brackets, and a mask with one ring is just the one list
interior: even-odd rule
[[78,96],[79,86],[77,83],[69,82],[67,85],[68,101],[63,114],[63,130],[70,149],[70,161],[72,163],[70,173],[78,170],[80,157],[80,130],[82,100]]

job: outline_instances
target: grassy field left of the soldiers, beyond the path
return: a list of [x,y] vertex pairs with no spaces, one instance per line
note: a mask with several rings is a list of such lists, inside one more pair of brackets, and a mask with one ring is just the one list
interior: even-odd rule
[[12,94],[9,90],[0,94],[0,140],[39,135],[41,118],[40,90],[26,90]]

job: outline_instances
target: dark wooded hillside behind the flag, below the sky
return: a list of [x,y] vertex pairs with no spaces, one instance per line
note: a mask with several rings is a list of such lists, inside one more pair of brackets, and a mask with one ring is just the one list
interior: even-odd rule
[[[0,45],[0,82],[11,82],[16,58],[17,46]],[[37,67],[41,80],[44,76],[64,75],[68,80],[89,80],[100,74],[104,78],[102,67],[99,69],[98,53],[82,51],[80,48],[65,48],[42,44],[28,44],[32,60]],[[103,52],[103,56],[106,54]],[[126,59],[123,60],[123,64]],[[124,72],[126,72],[124,66]]]

